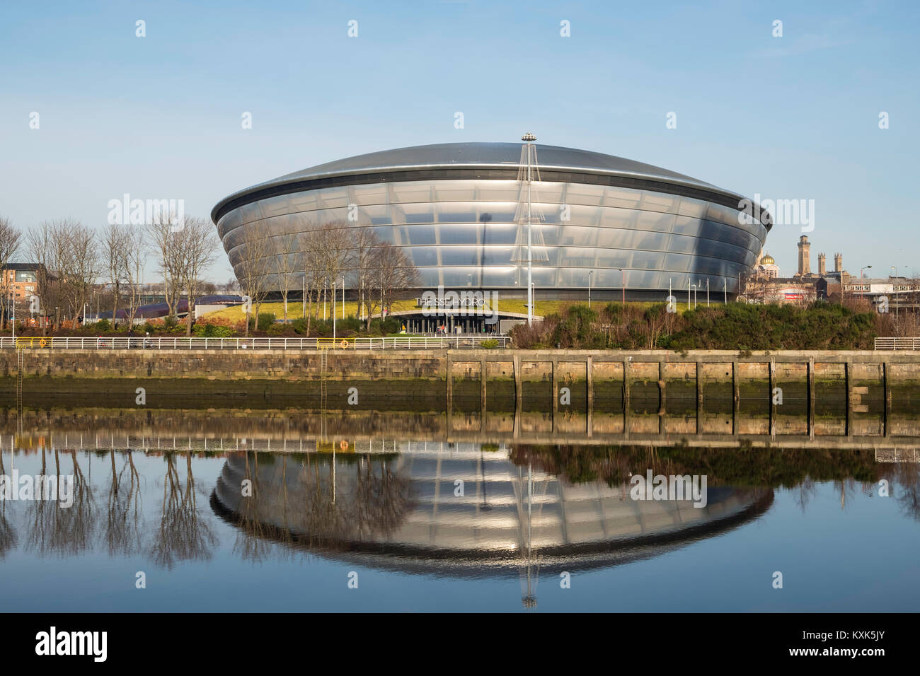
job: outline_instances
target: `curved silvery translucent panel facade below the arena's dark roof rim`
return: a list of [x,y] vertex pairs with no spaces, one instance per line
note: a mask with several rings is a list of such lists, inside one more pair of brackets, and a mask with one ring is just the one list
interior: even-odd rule
[[[295,257],[303,251],[299,235],[340,223],[373,228],[383,241],[404,247],[419,269],[420,289],[443,284],[526,294],[526,263],[515,259],[520,255],[514,246],[519,181],[361,183],[360,174],[351,180],[353,185],[253,195],[253,201],[224,211],[217,225],[231,264],[236,268],[240,261],[247,223],[263,222],[276,250]],[[538,191],[535,212],[542,212],[543,221],[534,225],[534,241],[539,230],[548,260],[534,256],[537,295],[584,292],[589,270],[596,291],[619,290],[624,270],[628,292],[670,287],[676,294],[688,283],[706,289],[708,281],[710,292],[722,292],[724,283],[735,293],[739,273],[753,268],[766,239],[765,226],[743,224],[736,208],[658,189],[545,180]]]

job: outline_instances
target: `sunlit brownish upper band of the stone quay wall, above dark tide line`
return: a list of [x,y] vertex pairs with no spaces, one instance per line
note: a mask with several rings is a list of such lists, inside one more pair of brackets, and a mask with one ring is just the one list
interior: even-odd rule
[[[205,380],[314,380],[324,375],[315,351],[186,349],[26,349],[26,378],[190,378]],[[448,362],[453,379],[478,379],[485,364],[488,380],[514,380],[520,364],[523,381],[548,382],[555,363],[562,382],[584,380],[591,363],[592,380],[619,381],[624,368],[631,383],[701,380],[731,383],[732,370],[742,381],[804,381],[809,362],[818,381],[920,381],[920,351],[799,351],[739,353],[732,350],[330,350],[325,377],[331,380],[443,381]],[[734,366],[733,366],[734,365]],[[849,372],[847,373],[847,368]],[[886,372],[887,370],[887,372]],[[17,352],[0,351],[0,376],[16,377]]]

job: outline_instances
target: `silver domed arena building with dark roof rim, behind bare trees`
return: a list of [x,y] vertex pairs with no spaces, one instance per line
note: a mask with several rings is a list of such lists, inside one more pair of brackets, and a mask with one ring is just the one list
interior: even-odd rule
[[[745,204],[760,210],[741,195],[621,157],[533,147],[538,300],[584,299],[590,285],[596,300],[619,299],[625,290],[627,299],[663,301],[669,289],[680,297],[689,286],[721,301],[738,293],[740,274],[757,263],[770,216],[745,218]],[[248,223],[264,223],[272,238],[293,238],[278,250],[295,256],[302,234],[341,223],[374,228],[403,247],[419,270],[406,298],[439,286],[521,298],[521,166],[522,143],[357,155],[240,190],[213,208],[212,219],[237,276]],[[353,288],[348,274],[346,288]]]

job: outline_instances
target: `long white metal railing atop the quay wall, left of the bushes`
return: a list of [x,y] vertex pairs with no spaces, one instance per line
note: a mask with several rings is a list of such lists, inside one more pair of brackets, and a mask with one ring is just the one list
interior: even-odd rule
[[[494,341],[507,346],[507,336],[445,336],[397,338],[0,338],[0,349],[476,349]],[[488,343],[489,346],[492,343]]]

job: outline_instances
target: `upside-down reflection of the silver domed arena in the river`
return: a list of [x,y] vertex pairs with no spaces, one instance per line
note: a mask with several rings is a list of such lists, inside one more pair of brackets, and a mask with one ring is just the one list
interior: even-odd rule
[[[488,450],[487,450],[488,449]],[[691,500],[633,500],[627,484],[572,484],[507,450],[403,442],[398,453],[235,453],[212,495],[244,556],[270,543],[356,565],[445,576],[538,575],[657,556],[763,513],[771,489],[708,487]],[[244,495],[245,494],[245,495]]]

